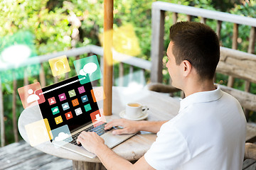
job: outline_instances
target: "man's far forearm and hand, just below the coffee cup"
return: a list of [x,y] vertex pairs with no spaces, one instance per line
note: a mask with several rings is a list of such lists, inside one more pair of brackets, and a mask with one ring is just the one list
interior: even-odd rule
[[146,131],[146,132],[159,132],[161,125],[166,123],[166,121],[132,121],[126,119],[117,119],[112,120],[110,123],[105,125],[105,130],[112,128],[113,126],[122,126],[123,129],[113,130],[113,135],[120,135],[120,134],[130,134],[139,131]]

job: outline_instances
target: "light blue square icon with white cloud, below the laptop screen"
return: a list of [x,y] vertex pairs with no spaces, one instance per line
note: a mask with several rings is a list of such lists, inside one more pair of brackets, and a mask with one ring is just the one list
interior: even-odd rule
[[53,134],[53,145],[56,148],[61,147],[73,140],[68,125],[60,126],[60,128],[56,128],[51,132]]

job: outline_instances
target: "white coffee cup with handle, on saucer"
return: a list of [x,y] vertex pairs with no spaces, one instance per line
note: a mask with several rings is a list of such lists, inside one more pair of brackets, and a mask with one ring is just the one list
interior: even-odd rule
[[[142,111],[144,109],[144,111]],[[130,102],[127,103],[125,108],[125,115],[128,118],[140,118],[146,113],[147,107],[143,106],[141,103]]]

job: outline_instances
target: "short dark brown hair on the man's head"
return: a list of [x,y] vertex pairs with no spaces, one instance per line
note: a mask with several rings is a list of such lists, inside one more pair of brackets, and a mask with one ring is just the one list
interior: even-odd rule
[[176,64],[191,62],[201,79],[213,79],[220,60],[220,44],[215,32],[203,23],[178,22],[170,28]]

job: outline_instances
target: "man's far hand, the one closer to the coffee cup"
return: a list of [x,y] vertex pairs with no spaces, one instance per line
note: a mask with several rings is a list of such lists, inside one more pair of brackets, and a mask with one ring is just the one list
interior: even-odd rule
[[113,126],[122,126],[123,129],[113,130],[113,135],[131,134],[139,131],[138,125],[139,122],[137,121],[116,119],[112,120],[110,123],[107,123],[105,125],[105,130],[109,130]]

